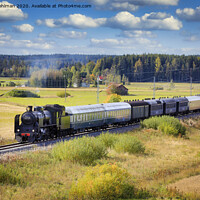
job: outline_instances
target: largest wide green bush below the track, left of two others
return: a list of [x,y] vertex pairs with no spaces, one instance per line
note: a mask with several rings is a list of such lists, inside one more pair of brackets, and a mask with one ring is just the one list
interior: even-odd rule
[[52,156],[57,160],[69,160],[91,165],[107,155],[107,148],[100,140],[82,137],[55,145]]

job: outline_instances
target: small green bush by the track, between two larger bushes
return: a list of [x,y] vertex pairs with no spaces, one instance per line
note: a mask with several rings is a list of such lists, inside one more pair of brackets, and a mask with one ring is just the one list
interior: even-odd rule
[[100,142],[102,142],[107,148],[114,146],[114,143],[117,141],[117,136],[115,134],[105,133],[97,137]]

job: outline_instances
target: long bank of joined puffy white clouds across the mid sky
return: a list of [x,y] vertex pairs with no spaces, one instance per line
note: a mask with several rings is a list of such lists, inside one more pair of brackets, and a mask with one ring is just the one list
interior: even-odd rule
[[110,27],[122,30],[149,29],[149,30],[180,30],[182,23],[166,13],[146,13],[142,17],[136,17],[130,12],[119,12],[111,18],[93,19],[82,14],[73,14],[60,19],[37,20],[38,25],[46,25],[50,28],[73,27],[79,29]]

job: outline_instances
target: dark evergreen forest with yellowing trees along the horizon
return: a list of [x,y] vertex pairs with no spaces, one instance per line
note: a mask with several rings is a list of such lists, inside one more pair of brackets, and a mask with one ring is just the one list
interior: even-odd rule
[[77,87],[81,83],[199,82],[200,56],[142,55],[0,55],[2,77],[30,77],[38,87]]

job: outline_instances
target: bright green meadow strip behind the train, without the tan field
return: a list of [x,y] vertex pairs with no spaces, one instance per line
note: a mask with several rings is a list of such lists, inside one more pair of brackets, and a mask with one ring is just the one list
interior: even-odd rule
[[[131,83],[126,86],[129,89],[128,96],[122,96],[124,100],[145,99],[153,97],[153,83]],[[170,87],[170,83],[156,83],[155,97],[173,97],[173,96],[190,96],[190,84],[174,83],[174,87]],[[0,95],[15,89],[12,87],[1,87]],[[19,88],[18,88],[19,89]],[[65,98],[59,98],[57,92],[64,91],[64,88],[21,88],[30,90],[40,95],[41,98],[11,98],[6,95],[0,98],[0,102],[14,105],[45,105],[45,104],[62,104],[64,106],[77,106],[97,103],[96,88],[67,88],[67,92],[71,95]],[[100,85],[99,103],[106,100],[106,86]],[[200,84],[192,85],[192,95],[200,93]]]

